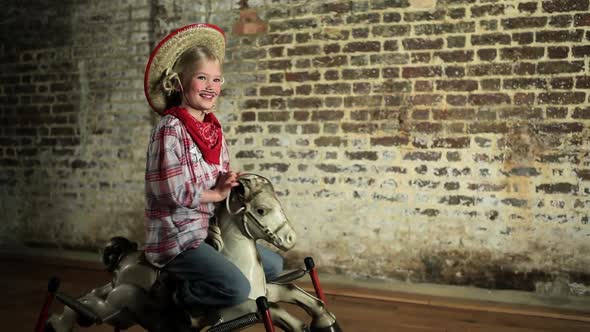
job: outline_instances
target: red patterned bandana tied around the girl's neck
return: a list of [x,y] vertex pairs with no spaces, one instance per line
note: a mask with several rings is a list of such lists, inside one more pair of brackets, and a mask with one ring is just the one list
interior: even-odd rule
[[221,124],[213,113],[205,114],[203,122],[197,121],[184,107],[167,109],[162,116],[172,115],[184,124],[193,141],[201,150],[203,158],[209,164],[219,165],[223,133]]

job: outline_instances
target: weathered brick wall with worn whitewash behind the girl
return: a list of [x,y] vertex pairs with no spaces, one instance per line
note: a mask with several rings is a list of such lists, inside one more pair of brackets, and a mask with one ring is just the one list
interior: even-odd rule
[[251,0],[268,24],[253,36],[231,32],[229,0],[35,11],[1,49],[0,230],[141,238],[143,66],[168,31],[208,21],[228,31],[234,168],[280,191],[291,264],[588,294],[589,2]]

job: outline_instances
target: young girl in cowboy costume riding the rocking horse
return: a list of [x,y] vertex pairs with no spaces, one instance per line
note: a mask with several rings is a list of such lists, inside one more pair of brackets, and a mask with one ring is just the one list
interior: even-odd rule
[[[162,115],[146,165],[145,254],[181,280],[175,301],[188,308],[235,305],[250,292],[248,280],[204,242],[215,203],[238,185],[213,111],[223,83],[223,31],[194,24],[172,32],[153,51],[145,93]],[[268,280],[282,258],[259,246]]]

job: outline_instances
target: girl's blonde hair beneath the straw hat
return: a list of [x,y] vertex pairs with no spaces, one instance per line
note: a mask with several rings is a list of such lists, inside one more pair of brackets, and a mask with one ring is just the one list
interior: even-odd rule
[[162,81],[162,88],[168,95],[166,98],[166,108],[180,105],[182,102],[180,84],[185,88],[189,87],[194,73],[205,60],[216,61],[221,66],[221,61],[211,50],[198,45],[184,51],[178,57],[172,70],[166,71],[166,76]]

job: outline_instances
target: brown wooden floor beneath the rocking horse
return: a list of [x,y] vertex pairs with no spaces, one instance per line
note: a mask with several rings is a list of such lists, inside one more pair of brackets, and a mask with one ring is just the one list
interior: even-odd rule
[[[60,291],[82,295],[105,284],[109,276],[97,264],[63,259],[0,255],[0,331],[33,331],[51,276],[61,279]],[[304,284],[304,287],[309,285]],[[409,293],[381,292],[324,284],[328,307],[346,332],[383,331],[590,331],[587,312],[542,307],[499,305]],[[55,303],[53,311],[62,306]],[[303,318],[298,308],[287,310]],[[77,328],[75,331],[112,331],[108,326]],[[134,327],[128,331],[142,331]],[[247,331],[264,331],[261,326]]]

